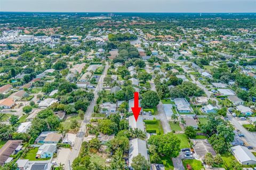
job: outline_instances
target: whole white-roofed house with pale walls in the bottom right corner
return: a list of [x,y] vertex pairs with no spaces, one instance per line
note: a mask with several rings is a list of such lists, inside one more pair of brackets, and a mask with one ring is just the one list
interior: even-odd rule
[[232,147],[231,150],[237,161],[242,165],[252,165],[256,164],[256,157],[252,154],[252,152],[243,146],[235,146]]

